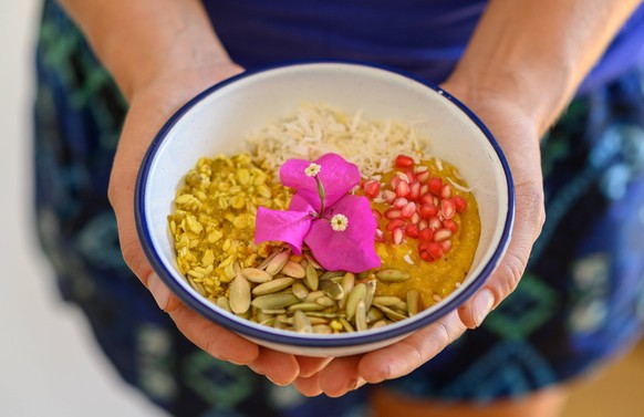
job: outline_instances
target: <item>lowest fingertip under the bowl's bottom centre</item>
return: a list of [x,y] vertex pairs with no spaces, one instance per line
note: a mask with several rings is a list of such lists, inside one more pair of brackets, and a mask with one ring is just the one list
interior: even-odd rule
[[340,397],[364,384],[357,372],[362,355],[336,357],[319,375],[320,388],[330,397]]

